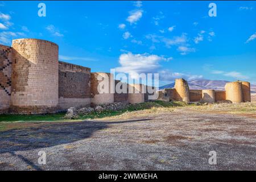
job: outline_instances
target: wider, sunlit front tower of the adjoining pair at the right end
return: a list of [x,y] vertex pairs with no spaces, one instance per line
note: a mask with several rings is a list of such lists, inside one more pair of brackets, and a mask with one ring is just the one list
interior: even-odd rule
[[226,100],[231,101],[232,103],[243,102],[242,82],[228,82],[225,85],[225,90]]

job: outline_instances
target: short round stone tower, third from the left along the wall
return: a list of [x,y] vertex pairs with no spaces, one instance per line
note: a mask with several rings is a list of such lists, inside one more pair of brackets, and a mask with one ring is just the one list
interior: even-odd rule
[[138,104],[144,102],[144,85],[129,84],[129,103]]

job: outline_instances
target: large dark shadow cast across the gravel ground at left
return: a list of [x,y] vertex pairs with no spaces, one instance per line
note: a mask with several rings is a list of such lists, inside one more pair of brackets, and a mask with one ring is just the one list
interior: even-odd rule
[[111,124],[147,121],[136,119],[118,122],[82,121],[58,122],[46,126],[11,129],[0,132],[0,154],[52,147],[89,138],[94,132],[108,128]]

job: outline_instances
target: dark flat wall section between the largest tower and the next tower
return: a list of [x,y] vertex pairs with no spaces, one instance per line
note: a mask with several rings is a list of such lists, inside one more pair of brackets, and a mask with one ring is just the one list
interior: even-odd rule
[[59,61],[59,110],[90,105],[90,68]]

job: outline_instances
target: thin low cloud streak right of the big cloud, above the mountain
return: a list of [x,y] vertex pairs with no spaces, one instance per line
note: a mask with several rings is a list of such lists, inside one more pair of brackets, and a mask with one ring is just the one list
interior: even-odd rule
[[177,73],[171,72],[168,69],[159,71],[159,79],[162,81],[173,81],[176,78],[184,78],[185,80],[195,80],[198,78],[203,78],[202,75],[191,75],[187,73]]

